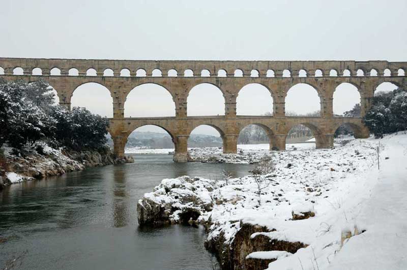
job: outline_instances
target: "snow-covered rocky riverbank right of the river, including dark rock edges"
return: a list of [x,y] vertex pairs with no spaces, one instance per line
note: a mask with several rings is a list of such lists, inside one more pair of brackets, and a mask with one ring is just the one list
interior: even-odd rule
[[[206,247],[227,270],[402,269],[407,136],[381,140],[381,170],[378,143],[358,139],[333,149],[274,153],[260,203],[253,176],[227,184],[221,176],[164,179],[139,200],[138,221],[205,225]],[[379,249],[381,256],[374,255]]]

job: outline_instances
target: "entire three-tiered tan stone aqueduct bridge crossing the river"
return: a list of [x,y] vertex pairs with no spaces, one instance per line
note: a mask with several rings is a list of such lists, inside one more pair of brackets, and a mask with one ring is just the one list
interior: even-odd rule
[[[75,89],[86,82],[95,82],[106,86],[113,99],[113,118],[110,118],[109,132],[114,142],[114,153],[124,155],[127,137],[136,128],[144,125],[156,125],[165,129],[175,144],[174,160],[187,161],[187,141],[189,134],[199,125],[209,125],[219,131],[223,139],[223,152],[236,153],[237,138],[240,131],[249,124],[263,127],[270,138],[270,148],[285,149],[285,139],[290,128],[303,124],[310,128],[316,139],[317,148],[333,146],[333,134],[342,124],[354,130],[357,138],[369,135],[361,118],[334,117],[332,110],[335,88],[343,83],[351,83],[358,88],[361,96],[362,116],[371,106],[371,99],[376,87],[382,82],[392,82],[399,87],[407,86],[407,78],[403,72],[407,62],[387,61],[122,61],[122,60],[90,60],[90,59],[34,59],[34,58],[0,58],[0,67],[4,69],[7,80],[16,79],[13,70],[23,69],[19,79],[36,81],[40,78],[54,87],[60,104],[70,107],[71,97]],[[40,68],[42,75],[32,75],[35,68]],[[57,68],[61,74],[51,76],[50,70]],[[78,70],[78,76],[69,76],[71,68]],[[96,70],[97,76],[86,76],[89,69]],[[113,76],[103,76],[106,69],[113,71]],[[130,71],[130,77],[121,77],[123,69]],[[143,69],[147,76],[137,77],[136,71]],[[161,77],[153,77],[153,70],[161,71]],[[177,77],[168,77],[169,70],[176,70]],[[184,77],[185,70],[192,70],[194,77]],[[243,76],[235,77],[235,71],[241,70]],[[387,70],[387,76],[385,70]],[[201,77],[201,71],[207,70],[209,77]],[[219,77],[223,70],[225,76]],[[255,70],[257,77],[251,77]],[[274,77],[268,77],[272,70]],[[283,77],[288,70],[290,77]],[[299,72],[306,72],[306,77],[299,77]],[[334,70],[338,76],[329,76]],[[364,76],[357,76],[359,70]],[[370,76],[371,70],[377,76]],[[318,71],[322,76],[315,77]],[[360,71],[359,71],[360,73]],[[196,76],[199,74],[199,76]],[[345,76],[348,74],[348,76]],[[144,83],[159,84],[167,89],[176,105],[175,117],[125,118],[124,103],[129,92],[137,85]],[[225,99],[225,115],[223,116],[187,116],[187,97],[191,88],[200,83],[217,86]],[[236,98],[239,90],[246,84],[259,83],[266,86],[273,98],[273,116],[237,116]],[[288,89],[295,84],[306,83],[313,86],[321,100],[320,117],[287,117],[285,116],[285,97]]]

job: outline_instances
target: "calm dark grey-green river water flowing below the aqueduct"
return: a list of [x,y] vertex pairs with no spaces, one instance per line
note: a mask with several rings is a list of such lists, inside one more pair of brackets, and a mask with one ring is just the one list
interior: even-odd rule
[[[27,250],[19,269],[211,270],[202,228],[139,228],[136,203],[163,178],[235,176],[252,165],[173,163],[134,155],[135,163],[89,168],[15,184],[0,192],[0,269]],[[213,258],[213,261],[216,260]]]

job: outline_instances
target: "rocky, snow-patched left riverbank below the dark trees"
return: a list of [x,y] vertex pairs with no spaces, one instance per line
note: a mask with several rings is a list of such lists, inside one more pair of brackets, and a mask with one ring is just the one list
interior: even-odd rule
[[27,145],[20,152],[6,145],[2,147],[2,152],[0,189],[4,185],[61,175],[86,167],[134,162],[131,157],[117,159],[111,151],[67,151],[49,147],[45,143]]

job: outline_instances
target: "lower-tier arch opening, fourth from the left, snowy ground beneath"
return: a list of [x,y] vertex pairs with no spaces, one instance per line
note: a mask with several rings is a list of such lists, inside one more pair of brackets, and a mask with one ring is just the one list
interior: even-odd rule
[[[316,144],[319,142],[319,136],[317,136],[319,134],[321,134],[321,131],[319,131],[319,129],[312,124],[294,124],[289,127],[289,130],[287,132],[287,137],[285,139],[285,149],[288,150],[290,148],[287,147],[287,144],[296,144],[292,145],[292,148],[315,148]],[[318,142],[316,142],[316,140],[318,140]]]

